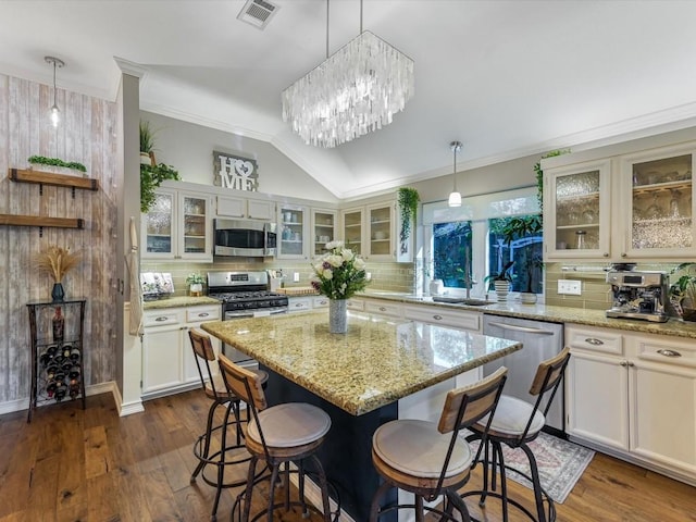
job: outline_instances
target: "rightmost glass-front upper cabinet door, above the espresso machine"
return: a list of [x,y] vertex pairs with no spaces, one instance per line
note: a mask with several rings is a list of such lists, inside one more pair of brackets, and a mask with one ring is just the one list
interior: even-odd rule
[[620,160],[623,234],[616,250],[625,258],[693,257],[696,145],[624,156]]

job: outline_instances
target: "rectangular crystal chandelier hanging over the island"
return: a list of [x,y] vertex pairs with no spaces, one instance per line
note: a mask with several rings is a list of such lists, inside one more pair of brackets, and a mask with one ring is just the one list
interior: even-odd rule
[[307,145],[332,148],[391,123],[413,96],[413,60],[369,30],[328,55],[282,94],[283,121]]

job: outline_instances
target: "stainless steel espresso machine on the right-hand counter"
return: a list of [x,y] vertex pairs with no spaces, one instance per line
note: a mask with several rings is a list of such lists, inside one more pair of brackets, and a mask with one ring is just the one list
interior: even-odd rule
[[611,285],[612,306],[608,318],[639,319],[663,323],[668,320],[667,273],[611,270],[607,272]]

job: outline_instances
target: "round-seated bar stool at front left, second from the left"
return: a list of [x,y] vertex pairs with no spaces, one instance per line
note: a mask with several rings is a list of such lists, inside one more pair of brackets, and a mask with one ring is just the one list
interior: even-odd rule
[[[253,515],[252,521],[259,520],[264,514],[268,520],[273,520],[273,511],[276,508],[299,506],[302,515],[308,517],[309,511],[321,514],[325,522],[338,519],[340,505],[335,513],[331,512],[328,504],[328,483],[316,450],[331,428],[331,418],[321,408],[304,402],[288,402],[268,408],[265,395],[261,386],[261,377],[233,363],[225,356],[220,356],[220,371],[222,373],[227,391],[240,397],[247,403],[249,422],[245,426],[245,442],[251,453],[246,490],[237,497],[233,508],[232,520],[238,512],[243,522],[249,521],[251,510],[251,497],[253,486],[259,482],[256,475],[257,463],[261,460],[271,470],[271,484],[268,507]],[[314,473],[319,480],[322,496],[322,510],[307,502],[304,498],[304,461],[313,463]],[[290,501],[289,463],[295,462],[298,473],[299,499]],[[281,467],[285,464],[285,498],[283,502],[275,502],[275,486],[278,483]],[[263,478],[268,478],[264,476]],[[244,506],[244,510],[240,509]],[[239,511],[237,511],[239,509]]]

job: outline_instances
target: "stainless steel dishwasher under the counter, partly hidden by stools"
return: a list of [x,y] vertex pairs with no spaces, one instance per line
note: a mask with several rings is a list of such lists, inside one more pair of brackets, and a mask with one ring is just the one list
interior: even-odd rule
[[[508,380],[502,393],[533,405],[536,397],[530,395],[532,380],[539,362],[556,356],[563,349],[563,325],[529,319],[484,315],[483,333],[522,343],[521,350],[484,364],[483,374],[490,375],[505,365],[508,369]],[[560,386],[546,415],[544,431],[556,434],[566,432],[563,407],[563,386]]]

